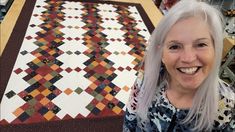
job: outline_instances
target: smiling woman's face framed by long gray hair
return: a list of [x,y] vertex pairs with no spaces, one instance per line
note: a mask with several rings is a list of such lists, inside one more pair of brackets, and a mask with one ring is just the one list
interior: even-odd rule
[[199,17],[177,22],[168,32],[162,62],[170,75],[170,87],[196,90],[214,64],[209,27]]

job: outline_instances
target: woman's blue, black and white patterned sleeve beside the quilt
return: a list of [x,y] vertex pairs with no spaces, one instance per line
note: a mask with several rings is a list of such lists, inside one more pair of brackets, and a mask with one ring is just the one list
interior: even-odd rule
[[137,96],[140,91],[140,87],[143,82],[143,72],[139,71],[137,79],[131,88],[131,94],[126,106],[126,112],[124,117],[123,132],[135,132],[137,127],[136,107]]

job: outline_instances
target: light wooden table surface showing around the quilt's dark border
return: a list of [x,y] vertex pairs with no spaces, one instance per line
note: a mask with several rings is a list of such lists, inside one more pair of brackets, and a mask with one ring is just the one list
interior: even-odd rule
[[[147,12],[152,23],[156,26],[159,20],[162,18],[161,12],[154,5],[152,0],[113,0],[113,1],[122,1],[122,2],[131,2],[131,3],[141,3]],[[11,35],[11,32],[15,26],[16,20],[20,14],[20,11],[25,3],[25,0],[14,0],[10,10],[5,16],[4,20],[0,25],[0,55],[2,54],[6,43]]]

